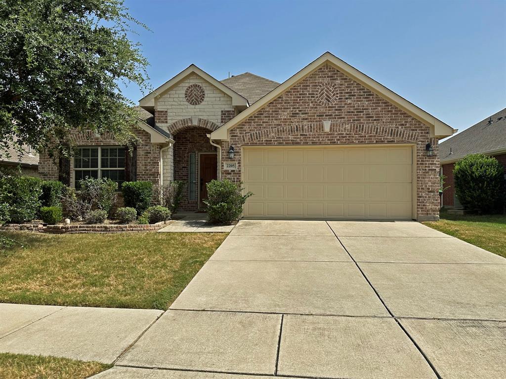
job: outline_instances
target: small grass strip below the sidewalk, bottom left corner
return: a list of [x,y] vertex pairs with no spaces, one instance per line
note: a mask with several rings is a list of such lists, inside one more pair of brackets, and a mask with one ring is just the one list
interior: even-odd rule
[[111,367],[99,362],[0,353],[2,379],[83,379]]

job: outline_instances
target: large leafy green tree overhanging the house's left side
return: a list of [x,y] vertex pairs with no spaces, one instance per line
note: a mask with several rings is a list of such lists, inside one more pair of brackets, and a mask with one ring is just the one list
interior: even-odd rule
[[9,142],[66,154],[73,129],[131,143],[119,83],[147,87],[136,26],[122,0],[0,0],[0,157]]

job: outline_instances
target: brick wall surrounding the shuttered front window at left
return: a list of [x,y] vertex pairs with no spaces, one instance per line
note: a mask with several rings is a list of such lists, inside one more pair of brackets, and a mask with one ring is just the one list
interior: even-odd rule
[[[139,138],[137,143],[137,180],[149,180],[155,184],[159,180],[159,152],[160,147],[151,144],[150,134],[140,128],[135,130]],[[70,139],[75,146],[119,146],[112,135],[96,135],[93,131],[75,132]],[[70,172],[74,166],[73,159],[70,159]],[[58,180],[58,159],[56,163],[46,152],[40,153],[38,172],[43,179]],[[72,181],[71,181],[72,184]]]

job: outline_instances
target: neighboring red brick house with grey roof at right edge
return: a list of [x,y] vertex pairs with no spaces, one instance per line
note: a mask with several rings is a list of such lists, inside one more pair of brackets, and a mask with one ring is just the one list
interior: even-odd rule
[[495,157],[506,168],[506,108],[462,130],[439,145],[441,173],[446,176],[443,206],[461,208],[455,196],[453,168],[455,162],[469,154]]

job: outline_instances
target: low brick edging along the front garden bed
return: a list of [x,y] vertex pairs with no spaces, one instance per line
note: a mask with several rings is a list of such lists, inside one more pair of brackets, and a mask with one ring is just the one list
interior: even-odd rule
[[74,224],[74,225],[43,225],[43,224],[6,224],[0,230],[27,230],[41,233],[121,233],[131,231],[156,231],[173,221],[162,221],[156,224]]

